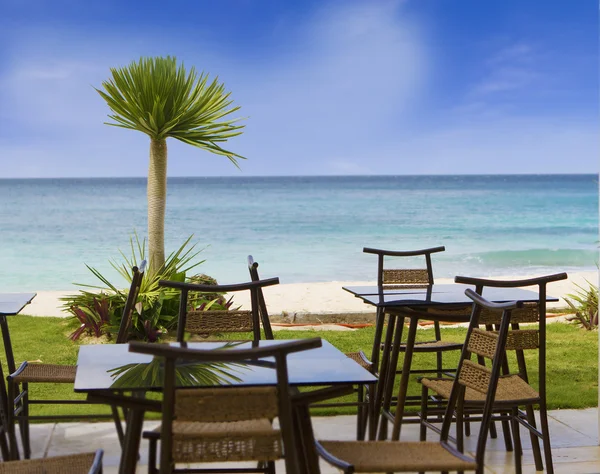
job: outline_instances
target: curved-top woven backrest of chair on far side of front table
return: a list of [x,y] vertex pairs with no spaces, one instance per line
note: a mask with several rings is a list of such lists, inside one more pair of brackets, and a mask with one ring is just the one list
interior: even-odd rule
[[[252,339],[260,340],[259,291],[265,286],[277,285],[279,278],[251,281],[233,285],[199,285],[178,281],[160,280],[159,286],[181,290],[179,316],[177,322],[177,341],[183,342],[185,332],[202,336],[220,332],[252,332]],[[189,310],[189,292],[231,293],[250,291],[251,310],[208,311]]]

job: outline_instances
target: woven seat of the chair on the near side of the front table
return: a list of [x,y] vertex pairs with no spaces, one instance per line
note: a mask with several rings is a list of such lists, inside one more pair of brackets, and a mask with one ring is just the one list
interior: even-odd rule
[[[153,430],[160,431],[160,426]],[[275,461],[281,456],[281,433],[266,418],[226,423],[173,422],[175,462]]]

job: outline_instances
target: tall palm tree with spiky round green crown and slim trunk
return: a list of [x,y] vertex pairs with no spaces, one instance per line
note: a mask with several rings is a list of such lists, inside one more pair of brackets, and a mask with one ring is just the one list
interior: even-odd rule
[[224,120],[239,107],[229,92],[207,74],[189,74],[174,57],[141,58],[128,67],[111,68],[112,78],[96,89],[112,111],[115,127],[138,130],[150,137],[148,167],[148,257],[150,271],[165,262],[165,207],[167,200],[167,138],[172,137],[217,155],[238,166],[244,158],[218,143],[242,133],[239,119]]

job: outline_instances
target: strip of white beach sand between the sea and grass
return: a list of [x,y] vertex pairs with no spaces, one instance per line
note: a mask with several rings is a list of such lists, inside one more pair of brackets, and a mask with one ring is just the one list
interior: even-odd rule
[[[503,279],[529,278],[537,275],[523,277],[506,276]],[[598,273],[577,272],[569,275],[569,279],[551,283],[548,294],[562,298],[568,293],[577,290],[575,284],[587,286],[585,280],[598,283]],[[436,283],[451,283],[452,279],[438,279]],[[373,285],[374,282],[341,282],[332,281],[326,283],[290,283],[265,288],[264,295],[267,302],[269,314],[272,316],[285,313],[291,319],[294,314],[301,317],[303,314],[347,314],[347,313],[373,313],[374,309],[366,305],[360,299],[342,290],[342,286],[349,285]],[[73,294],[73,291],[40,291],[33,302],[23,309],[22,314],[33,316],[58,316],[66,317],[68,313],[61,311],[59,298]],[[236,295],[236,305],[249,306],[250,296],[245,294]],[[565,307],[561,299],[559,303],[552,303],[551,307]]]

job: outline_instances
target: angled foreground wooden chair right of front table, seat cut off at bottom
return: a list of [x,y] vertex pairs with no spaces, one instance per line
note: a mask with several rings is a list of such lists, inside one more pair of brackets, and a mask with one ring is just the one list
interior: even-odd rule
[[[511,312],[518,307],[516,302],[495,304],[485,300],[472,290],[465,292],[474,301],[473,312],[466,342],[462,348],[456,377],[452,379],[452,389],[448,401],[439,442],[427,441],[319,441],[316,444],[319,455],[344,473],[354,472],[424,472],[424,471],[476,471],[484,472],[485,446],[489,431],[494,395],[498,386],[505,345],[510,325]],[[485,308],[499,312],[501,325],[486,340],[485,351],[479,348],[477,332],[479,314]],[[482,368],[470,361],[471,353],[481,354],[492,360],[491,369]],[[477,442],[475,458],[466,456],[450,437],[450,427],[454,410],[461,410],[465,388],[482,394],[483,416]],[[399,420],[399,418],[397,418]],[[457,427],[460,430],[461,427]]]

